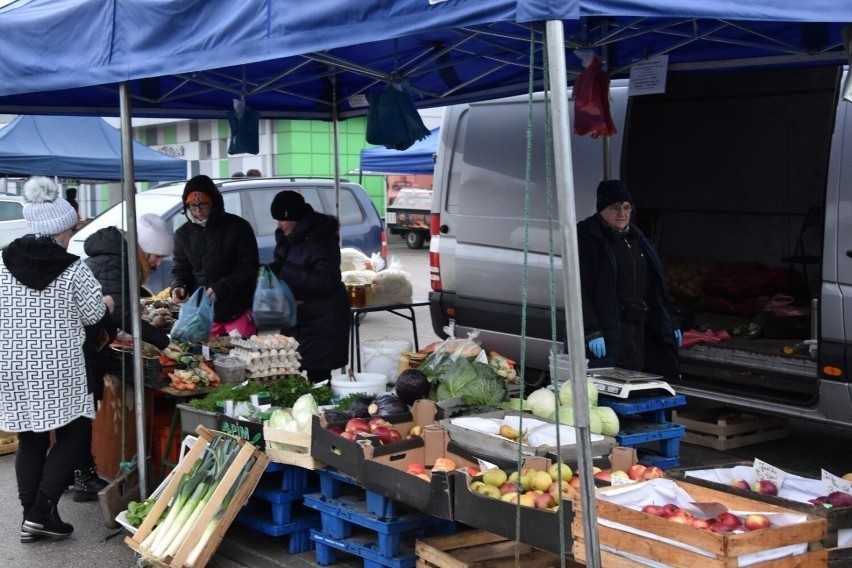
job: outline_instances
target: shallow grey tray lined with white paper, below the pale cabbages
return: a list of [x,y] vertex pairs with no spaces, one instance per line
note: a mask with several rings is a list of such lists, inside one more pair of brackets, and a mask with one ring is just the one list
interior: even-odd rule
[[[504,438],[503,436],[499,436],[496,434],[488,434],[478,430],[465,428],[459,426],[458,424],[462,421],[462,418],[486,418],[504,420],[507,417],[520,416],[521,413],[517,411],[497,410],[494,412],[477,414],[474,417],[466,416],[461,418],[445,418],[440,421],[440,424],[450,433],[450,438],[452,438],[453,441],[458,442],[461,446],[468,448],[471,451],[482,454],[483,456],[491,456],[494,459],[517,460],[517,441],[510,440],[508,438]],[[555,422],[553,422],[552,420],[539,418],[538,416],[533,416],[529,413],[523,413],[523,422],[527,424],[555,424]],[[571,428],[570,426],[565,425],[563,425],[563,427]],[[614,438],[610,438],[608,436],[601,436],[600,439],[592,442],[592,456],[608,455],[610,453],[610,450],[616,445],[617,444]],[[521,452],[524,455],[550,458],[554,458],[558,455],[559,459],[561,459],[563,462],[576,461],[577,459],[576,444],[562,445],[561,447],[546,445],[532,447],[527,444],[521,444]]]

